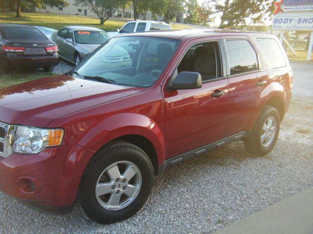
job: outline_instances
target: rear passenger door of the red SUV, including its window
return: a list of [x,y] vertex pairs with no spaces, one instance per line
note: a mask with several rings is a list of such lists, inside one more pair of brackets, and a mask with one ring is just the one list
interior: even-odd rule
[[251,39],[245,36],[221,38],[229,80],[226,135],[231,136],[252,129],[260,112],[263,91],[269,88],[269,79]]

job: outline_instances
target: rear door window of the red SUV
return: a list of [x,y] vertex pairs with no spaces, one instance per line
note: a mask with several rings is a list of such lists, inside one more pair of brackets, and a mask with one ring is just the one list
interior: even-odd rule
[[257,54],[247,40],[226,40],[230,75],[257,71]]

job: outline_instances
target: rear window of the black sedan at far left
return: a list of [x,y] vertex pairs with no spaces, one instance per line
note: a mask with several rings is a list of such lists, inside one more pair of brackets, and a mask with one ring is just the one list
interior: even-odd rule
[[3,28],[5,39],[40,39],[46,40],[44,34],[33,28]]

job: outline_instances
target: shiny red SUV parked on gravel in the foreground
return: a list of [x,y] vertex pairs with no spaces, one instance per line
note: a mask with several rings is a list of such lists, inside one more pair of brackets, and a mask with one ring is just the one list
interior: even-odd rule
[[96,222],[126,219],[170,166],[236,140],[270,152],[291,86],[270,34],[112,38],[65,75],[0,90],[0,188],[36,209],[77,201]]

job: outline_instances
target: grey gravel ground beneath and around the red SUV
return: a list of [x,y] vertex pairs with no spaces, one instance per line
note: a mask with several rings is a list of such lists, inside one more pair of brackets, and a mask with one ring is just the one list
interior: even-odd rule
[[32,211],[0,193],[0,233],[212,233],[313,186],[313,63],[292,62],[293,98],[273,151],[252,157],[242,142],[169,168],[132,218],[99,225]]

